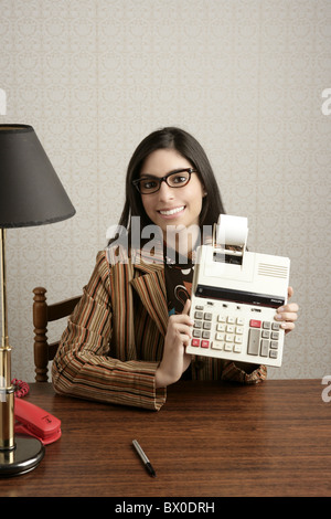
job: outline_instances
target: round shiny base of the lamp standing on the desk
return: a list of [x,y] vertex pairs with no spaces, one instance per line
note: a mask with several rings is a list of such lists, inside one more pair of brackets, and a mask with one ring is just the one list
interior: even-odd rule
[[33,437],[15,436],[13,449],[0,451],[0,478],[33,470],[45,454],[43,444]]

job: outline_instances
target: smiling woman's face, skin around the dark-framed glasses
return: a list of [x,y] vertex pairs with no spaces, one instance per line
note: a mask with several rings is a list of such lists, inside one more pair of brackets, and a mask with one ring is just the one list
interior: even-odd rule
[[[158,149],[150,153],[142,163],[140,177],[164,177],[178,169],[193,166],[173,149]],[[141,194],[142,204],[150,220],[163,232],[168,225],[199,225],[204,188],[197,173],[191,174],[190,182],[182,188],[170,188],[161,182],[159,191]]]

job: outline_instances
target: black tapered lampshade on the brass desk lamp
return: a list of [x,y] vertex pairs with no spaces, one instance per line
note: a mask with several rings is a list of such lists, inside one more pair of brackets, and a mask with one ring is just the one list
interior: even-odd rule
[[0,125],[0,227],[60,222],[75,212],[32,126]]

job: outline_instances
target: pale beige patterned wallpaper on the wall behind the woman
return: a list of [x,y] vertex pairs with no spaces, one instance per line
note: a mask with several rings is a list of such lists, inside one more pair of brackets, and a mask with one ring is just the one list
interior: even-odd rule
[[0,0],[0,123],[34,127],[77,210],[8,231],[13,377],[34,378],[32,288],[82,290],[164,125],[204,146],[249,248],[291,258],[300,319],[269,377],[331,374],[330,0]]

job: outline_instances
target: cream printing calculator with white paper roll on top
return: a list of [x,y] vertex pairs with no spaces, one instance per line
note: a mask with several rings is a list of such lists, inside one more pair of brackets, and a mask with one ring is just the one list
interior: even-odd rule
[[186,352],[280,367],[290,260],[247,251],[247,219],[221,214],[212,245],[197,248],[192,284],[193,338]]

